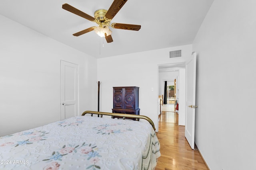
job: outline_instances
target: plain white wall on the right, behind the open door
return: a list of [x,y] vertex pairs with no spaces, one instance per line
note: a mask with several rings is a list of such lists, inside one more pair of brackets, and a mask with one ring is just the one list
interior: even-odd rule
[[211,170],[256,169],[255,6],[255,0],[215,0],[193,43],[195,141]]

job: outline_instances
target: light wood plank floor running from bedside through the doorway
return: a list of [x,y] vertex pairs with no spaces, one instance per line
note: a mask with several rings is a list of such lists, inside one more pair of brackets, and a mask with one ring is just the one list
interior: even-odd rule
[[208,170],[198,150],[190,148],[185,138],[185,127],[178,126],[177,113],[163,111],[156,135],[161,156],[155,170]]

